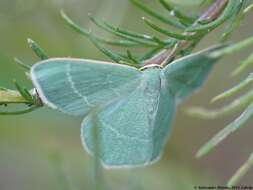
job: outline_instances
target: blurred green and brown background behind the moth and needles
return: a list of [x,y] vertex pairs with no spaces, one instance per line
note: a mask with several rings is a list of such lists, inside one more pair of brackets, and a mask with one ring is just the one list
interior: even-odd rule
[[[158,4],[150,4],[168,14]],[[14,88],[15,78],[32,87],[24,70],[13,61],[14,57],[27,64],[38,61],[27,45],[28,37],[51,57],[108,60],[87,39],[66,26],[59,14],[61,9],[86,28],[93,28],[87,16],[92,13],[116,26],[152,33],[141,20],[144,13],[127,0],[0,0],[0,86]],[[189,10],[192,14],[201,11]],[[253,34],[252,19],[251,14],[234,33],[233,41]],[[220,34],[215,30],[197,49],[215,44]],[[206,157],[196,159],[197,150],[239,113],[207,121],[193,118],[185,110],[194,105],[222,106],[222,103],[211,105],[210,99],[236,84],[240,77],[245,78],[247,73],[238,78],[231,78],[230,73],[250,52],[249,49],[224,58],[201,91],[178,107],[164,155],[149,167],[101,170],[100,177],[96,176],[92,158],[81,145],[82,118],[48,108],[21,116],[0,116],[0,189],[92,189],[94,183],[99,183],[104,189],[189,190],[198,185],[226,184],[252,151],[252,120]],[[241,184],[252,185],[252,178],[253,171]]]

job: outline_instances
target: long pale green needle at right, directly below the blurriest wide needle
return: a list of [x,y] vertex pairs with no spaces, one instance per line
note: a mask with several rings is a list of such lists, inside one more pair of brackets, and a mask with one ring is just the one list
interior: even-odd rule
[[197,153],[197,157],[202,157],[209,153],[215,146],[223,141],[228,135],[235,132],[237,129],[245,126],[244,124],[253,116],[253,102],[234,122],[226,126],[217,135],[215,135],[208,143],[206,143]]

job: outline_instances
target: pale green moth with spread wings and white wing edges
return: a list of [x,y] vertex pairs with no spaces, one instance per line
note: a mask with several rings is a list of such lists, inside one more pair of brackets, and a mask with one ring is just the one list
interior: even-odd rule
[[144,166],[158,160],[171,133],[178,102],[201,87],[218,60],[213,47],[162,68],[53,58],[35,64],[31,78],[42,102],[66,114],[85,116],[81,138],[95,152],[94,119],[105,167]]

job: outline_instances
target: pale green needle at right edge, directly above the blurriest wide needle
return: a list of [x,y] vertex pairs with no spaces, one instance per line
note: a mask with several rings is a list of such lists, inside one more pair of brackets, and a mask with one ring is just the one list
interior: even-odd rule
[[235,87],[231,88],[230,90],[216,96],[215,98],[212,99],[212,102],[219,101],[221,99],[233,96],[234,94],[238,93],[241,89],[249,85],[250,83],[253,82],[253,73],[251,73],[245,80],[240,82],[238,85]]

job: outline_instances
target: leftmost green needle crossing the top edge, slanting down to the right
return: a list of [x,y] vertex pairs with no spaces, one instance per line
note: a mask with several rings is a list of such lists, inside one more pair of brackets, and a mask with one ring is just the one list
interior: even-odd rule
[[171,26],[174,26],[179,29],[185,29],[185,26],[182,25],[180,22],[174,20],[174,19],[168,19],[167,17],[164,17],[163,15],[157,13],[156,11],[153,11],[152,9],[148,8],[144,5],[140,0],[130,0],[135,6],[143,10],[148,15],[160,20],[163,23],[169,24]]

